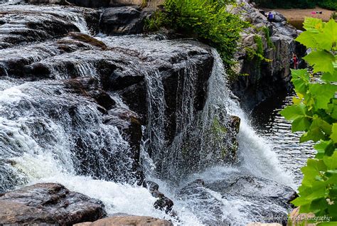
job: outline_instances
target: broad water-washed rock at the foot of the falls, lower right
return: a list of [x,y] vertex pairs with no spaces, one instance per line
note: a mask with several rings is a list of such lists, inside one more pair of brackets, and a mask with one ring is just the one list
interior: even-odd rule
[[[247,222],[240,222],[244,225],[249,222],[287,223],[288,210],[291,209],[289,201],[294,195],[294,190],[274,181],[228,172],[223,173],[221,178],[210,177],[205,181],[199,179],[188,183],[177,196],[187,202],[191,207],[189,209],[206,225],[218,225],[218,222],[230,225],[229,222],[236,222],[237,214],[224,212],[228,208],[245,212]],[[240,209],[236,209],[239,200]],[[226,216],[225,220],[223,216]]]

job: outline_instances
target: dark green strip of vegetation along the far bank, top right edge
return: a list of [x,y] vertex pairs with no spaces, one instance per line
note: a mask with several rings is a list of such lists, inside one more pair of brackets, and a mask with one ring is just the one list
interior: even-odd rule
[[336,0],[284,0],[284,1],[273,1],[273,0],[255,0],[255,3],[266,8],[284,8],[284,9],[312,9],[315,6],[321,6],[324,9],[337,10]]

